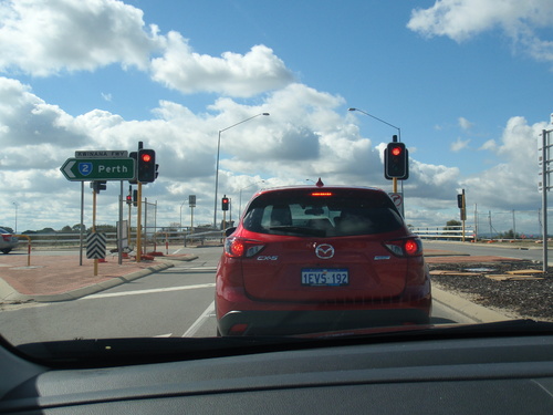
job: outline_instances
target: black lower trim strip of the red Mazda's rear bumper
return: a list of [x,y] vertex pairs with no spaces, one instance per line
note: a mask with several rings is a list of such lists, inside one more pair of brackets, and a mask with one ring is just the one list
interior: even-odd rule
[[372,310],[246,310],[230,311],[217,324],[221,335],[293,335],[428,324],[429,314],[429,305]]

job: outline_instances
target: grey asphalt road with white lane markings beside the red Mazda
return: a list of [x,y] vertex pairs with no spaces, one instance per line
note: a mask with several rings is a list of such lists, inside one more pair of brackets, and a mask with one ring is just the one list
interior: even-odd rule
[[[12,344],[213,336],[215,271],[221,248],[184,248],[180,252],[195,253],[198,259],[79,300],[8,308],[0,312],[1,333]],[[431,322],[471,321],[435,302]]]

